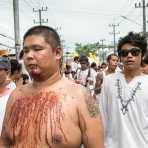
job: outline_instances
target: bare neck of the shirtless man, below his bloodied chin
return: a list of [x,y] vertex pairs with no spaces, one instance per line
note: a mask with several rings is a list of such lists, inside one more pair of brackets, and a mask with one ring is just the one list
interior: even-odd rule
[[44,81],[33,80],[32,86],[34,88],[42,88],[42,87],[45,87],[45,86],[51,86],[52,84],[56,83],[60,79],[61,79],[61,74],[59,72],[56,72],[50,78],[48,78]]

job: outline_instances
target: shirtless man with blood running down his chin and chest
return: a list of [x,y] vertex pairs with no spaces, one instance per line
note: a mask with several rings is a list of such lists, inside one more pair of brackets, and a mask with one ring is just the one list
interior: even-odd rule
[[18,87],[8,101],[1,147],[104,148],[96,103],[83,86],[60,75],[62,49],[56,31],[31,28],[23,51],[33,81]]

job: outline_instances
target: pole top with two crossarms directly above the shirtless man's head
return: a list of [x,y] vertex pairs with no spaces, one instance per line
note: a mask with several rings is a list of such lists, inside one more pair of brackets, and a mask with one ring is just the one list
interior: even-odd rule
[[42,7],[42,9],[38,9],[38,10],[35,10],[34,8],[33,8],[33,12],[38,12],[39,13],[39,21],[38,22],[36,22],[35,20],[33,20],[33,22],[34,23],[39,23],[40,24],[40,26],[42,25],[42,23],[47,23],[48,22],[48,19],[46,19],[46,21],[44,20],[44,19],[42,19],[42,11],[47,11],[47,7],[46,8],[43,8]]

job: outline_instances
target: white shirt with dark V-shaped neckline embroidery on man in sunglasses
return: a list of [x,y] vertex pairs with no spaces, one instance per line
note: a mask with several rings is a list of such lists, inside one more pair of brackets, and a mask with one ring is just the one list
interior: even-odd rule
[[148,147],[148,75],[128,83],[121,72],[106,76],[99,103],[105,148]]

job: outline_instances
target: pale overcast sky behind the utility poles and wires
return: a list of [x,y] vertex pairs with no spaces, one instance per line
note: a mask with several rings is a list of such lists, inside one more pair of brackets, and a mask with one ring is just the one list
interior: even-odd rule
[[[33,19],[38,21],[38,13],[32,9],[47,6],[42,19],[48,19],[45,25],[58,28],[62,40],[65,40],[65,48],[73,49],[76,42],[86,44],[101,39],[113,44],[113,28],[109,24],[119,24],[116,32],[120,34],[116,35],[116,40],[129,31],[142,31],[142,9],[135,8],[138,2],[141,0],[20,0],[21,41],[27,29],[35,25]],[[14,38],[12,0],[0,0],[0,11],[0,34]],[[14,46],[13,40],[2,36],[0,43]]]

